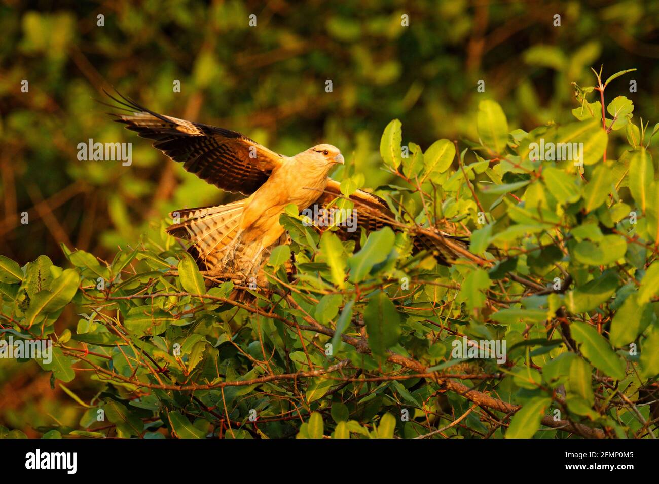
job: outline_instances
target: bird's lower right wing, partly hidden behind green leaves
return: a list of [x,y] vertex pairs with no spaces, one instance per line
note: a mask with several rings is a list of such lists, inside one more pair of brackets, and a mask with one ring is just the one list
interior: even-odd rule
[[[341,197],[341,184],[336,180],[329,179],[325,192],[318,198],[318,205],[326,208],[329,203]],[[350,196],[350,200],[355,203],[354,211],[357,215],[357,226],[363,227],[366,233],[374,230],[380,230],[383,227],[391,227],[395,231],[403,229],[400,223],[395,220],[395,215],[387,206],[387,202],[382,198],[357,190]],[[338,227],[335,232],[342,240],[355,240],[359,243],[361,230],[350,232],[349,227]],[[410,230],[405,228],[405,230]],[[467,255],[467,244],[463,237],[451,236],[440,232],[440,230],[429,227],[426,229],[416,229],[411,233],[414,245],[413,254],[422,250],[427,250],[433,254],[437,261],[443,265],[449,265],[451,261],[458,257]],[[465,254],[466,253],[466,254]]]

